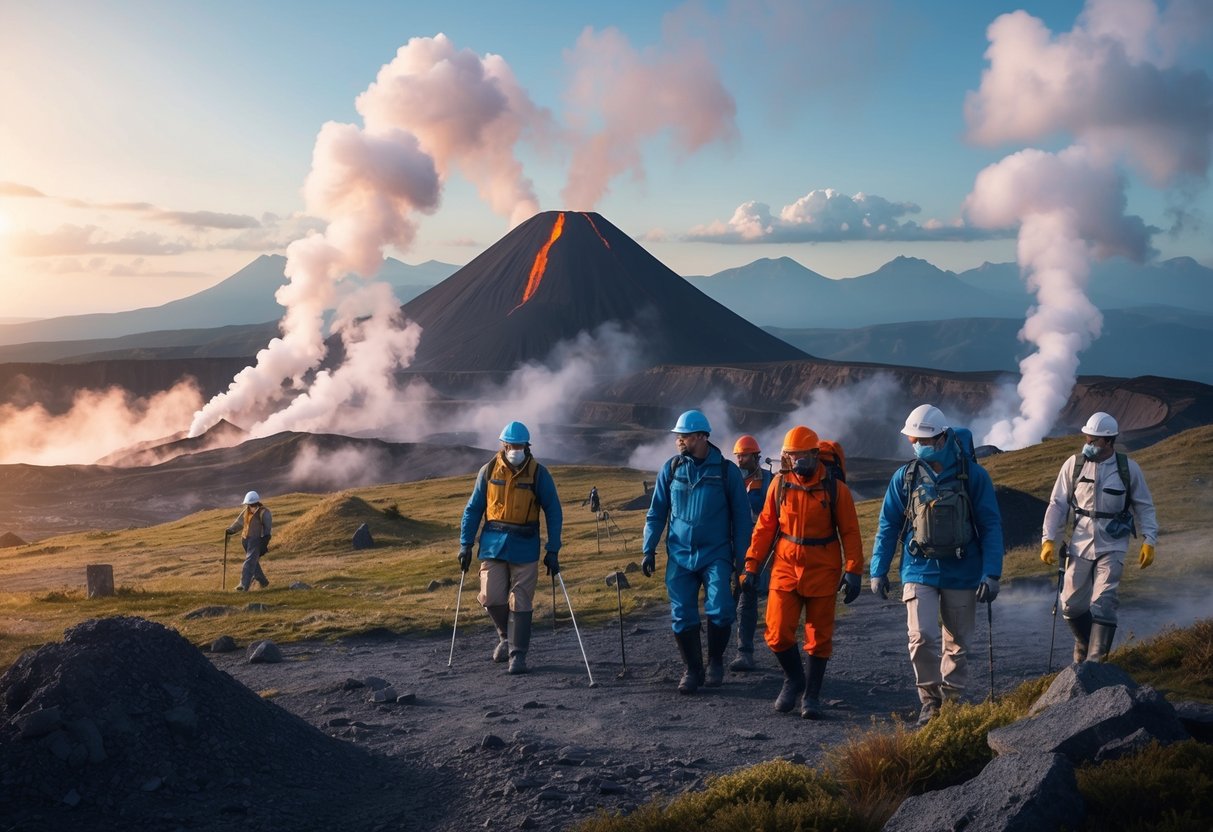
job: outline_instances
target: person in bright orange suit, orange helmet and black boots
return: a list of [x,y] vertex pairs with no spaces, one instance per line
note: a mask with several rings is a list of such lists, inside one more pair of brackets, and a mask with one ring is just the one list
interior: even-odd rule
[[[835,595],[845,589],[845,604],[859,597],[864,541],[850,490],[818,461],[818,434],[793,427],[780,457],[746,553],[742,597],[771,563],[767,645],[784,668],[775,710],[787,713],[803,694],[801,716],[820,719],[821,680],[833,655]],[[802,611],[808,668],[797,649]]]

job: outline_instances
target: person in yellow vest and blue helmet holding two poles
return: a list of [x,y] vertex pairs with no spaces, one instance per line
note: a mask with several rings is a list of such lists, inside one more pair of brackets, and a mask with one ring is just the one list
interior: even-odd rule
[[[501,450],[475,478],[460,524],[459,565],[472,565],[472,543],[480,532],[480,592],[477,599],[497,628],[492,661],[509,660],[509,673],[526,672],[531,611],[539,580],[539,513],[547,523],[543,565],[560,571],[560,496],[547,468],[530,450],[530,431],[511,422],[499,437]],[[480,523],[484,522],[483,530]]]

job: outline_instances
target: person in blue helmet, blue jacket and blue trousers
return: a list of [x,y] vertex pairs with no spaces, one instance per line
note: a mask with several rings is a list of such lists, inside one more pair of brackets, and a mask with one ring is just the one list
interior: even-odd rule
[[[745,565],[753,520],[741,471],[708,441],[712,427],[697,410],[678,417],[673,431],[678,454],[661,467],[644,520],[645,577],[656,571],[657,542],[666,530],[666,591],[670,617],[687,672],[678,693],[724,679],[724,650],[734,621],[731,580]],[[704,588],[707,617],[707,669],[699,631]]]

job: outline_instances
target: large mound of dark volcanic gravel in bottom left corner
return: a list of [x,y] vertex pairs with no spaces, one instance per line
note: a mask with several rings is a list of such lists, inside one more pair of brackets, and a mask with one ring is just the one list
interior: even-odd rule
[[218,828],[233,804],[257,828],[371,828],[389,819],[368,798],[412,775],[263,701],[141,619],[86,621],[0,677],[6,827],[161,828],[171,816],[164,828]]

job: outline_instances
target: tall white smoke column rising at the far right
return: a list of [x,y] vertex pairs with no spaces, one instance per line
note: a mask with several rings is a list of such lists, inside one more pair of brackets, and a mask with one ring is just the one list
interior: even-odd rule
[[1019,415],[985,443],[1023,448],[1048,434],[1103,323],[1086,295],[1092,258],[1151,253],[1157,229],[1126,215],[1120,166],[1158,188],[1203,181],[1213,82],[1178,61],[1211,22],[1208,4],[1160,11],[1152,0],[1089,0],[1061,35],[1021,11],[990,25],[990,67],[966,102],[970,137],[1000,144],[1064,133],[1075,144],[1003,159],[978,175],[966,201],[976,226],[1019,227],[1019,266],[1036,295],[1020,332],[1037,351],[1020,364]]

